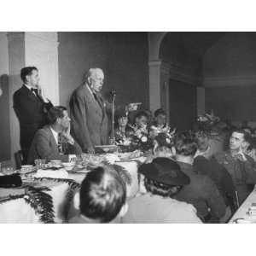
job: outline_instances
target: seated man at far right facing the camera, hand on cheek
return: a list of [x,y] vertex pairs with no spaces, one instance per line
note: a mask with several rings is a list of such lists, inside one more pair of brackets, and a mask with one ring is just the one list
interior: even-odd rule
[[236,129],[230,136],[229,149],[215,154],[218,163],[230,172],[241,204],[250,194],[256,183],[256,169],[253,159],[243,153],[243,147],[247,144],[249,135],[246,131]]

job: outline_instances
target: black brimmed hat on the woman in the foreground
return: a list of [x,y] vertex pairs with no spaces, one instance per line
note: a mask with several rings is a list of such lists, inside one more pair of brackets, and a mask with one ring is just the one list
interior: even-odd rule
[[158,157],[149,164],[143,164],[138,169],[148,179],[171,186],[190,183],[189,177],[183,173],[174,160]]

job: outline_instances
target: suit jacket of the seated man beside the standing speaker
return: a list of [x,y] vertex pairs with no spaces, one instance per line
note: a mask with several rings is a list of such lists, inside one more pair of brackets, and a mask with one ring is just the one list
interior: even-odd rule
[[32,146],[28,154],[28,164],[34,164],[36,159],[62,160],[68,161],[67,154],[81,154],[82,150],[78,143],[73,145],[69,143],[62,143],[64,154],[59,154],[58,145],[55,142],[55,137],[50,131],[49,125],[44,126],[43,129],[37,131],[32,141]]

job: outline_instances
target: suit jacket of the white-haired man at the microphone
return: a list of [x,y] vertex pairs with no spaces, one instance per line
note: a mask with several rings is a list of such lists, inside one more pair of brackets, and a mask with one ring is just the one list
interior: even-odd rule
[[70,100],[72,135],[83,151],[108,143],[108,104],[100,94],[96,100],[86,84],[74,90]]

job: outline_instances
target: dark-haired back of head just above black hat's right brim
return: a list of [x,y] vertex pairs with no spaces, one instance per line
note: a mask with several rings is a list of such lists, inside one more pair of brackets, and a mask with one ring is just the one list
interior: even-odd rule
[[195,137],[189,134],[179,134],[175,139],[176,154],[183,156],[194,156],[197,150]]

